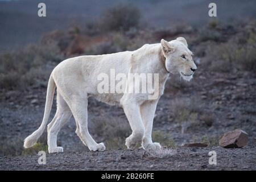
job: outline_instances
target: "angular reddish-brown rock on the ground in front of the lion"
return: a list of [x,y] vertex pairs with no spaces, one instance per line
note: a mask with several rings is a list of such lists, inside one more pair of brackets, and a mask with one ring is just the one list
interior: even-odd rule
[[222,135],[219,145],[224,148],[241,148],[246,146],[248,142],[248,134],[240,129],[229,131]]

